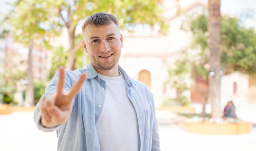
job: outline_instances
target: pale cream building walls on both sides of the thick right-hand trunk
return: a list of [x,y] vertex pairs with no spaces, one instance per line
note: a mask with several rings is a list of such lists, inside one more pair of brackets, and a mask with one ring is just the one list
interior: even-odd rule
[[[195,2],[184,9],[185,15],[169,15],[166,22],[170,25],[167,35],[156,35],[148,29],[140,28],[138,32],[123,33],[124,47],[119,60],[128,75],[139,79],[139,72],[147,70],[150,73],[150,90],[153,93],[155,106],[160,106],[166,97],[175,97],[171,85],[164,85],[168,77],[168,66],[180,59],[183,51],[196,51],[190,49],[192,34],[181,29],[187,22],[187,15],[195,16],[206,10],[207,6]],[[145,30],[145,31],[143,31]],[[189,78],[189,77],[188,77]],[[236,105],[248,103],[249,77],[234,73],[222,77],[221,80],[221,106],[224,107],[229,100]],[[233,85],[237,83],[237,92],[234,94]],[[202,87],[203,88],[203,87]],[[186,92],[191,97],[191,92]],[[202,100],[195,101],[201,103]]]

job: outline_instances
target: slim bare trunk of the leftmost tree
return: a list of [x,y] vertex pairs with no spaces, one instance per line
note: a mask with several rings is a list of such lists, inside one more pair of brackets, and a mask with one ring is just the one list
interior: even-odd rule
[[30,107],[34,105],[34,86],[33,86],[33,71],[32,71],[32,50],[33,50],[33,40],[29,42],[29,58],[28,58],[28,70],[27,70],[27,91],[25,96],[25,107]]

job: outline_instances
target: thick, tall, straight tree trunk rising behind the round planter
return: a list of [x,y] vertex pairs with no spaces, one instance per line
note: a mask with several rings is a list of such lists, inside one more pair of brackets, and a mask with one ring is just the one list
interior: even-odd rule
[[211,116],[213,118],[222,117],[220,110],[220,0],[209,0],[209,65],[215,72],[209,77],[209,101],[211,102]]

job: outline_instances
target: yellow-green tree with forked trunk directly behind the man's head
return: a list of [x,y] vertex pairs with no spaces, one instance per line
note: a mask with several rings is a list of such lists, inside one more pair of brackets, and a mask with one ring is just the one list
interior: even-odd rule
[[[162,0],[46,0],[47,9],[58,26],[54,28],[67,28],[69,35],[69,51],[65,68],[74,70],[75,54],[81,48],[81,34],[76,34],[76,28],[83,20],[100,11],[115,15],[121,28],[135,26],[135,24],[158,24],[161,31],[166,31],[167,26],[161,20]],[[40,4],[40,2],[38,2]],[[79,28],[80,29],[80,28]],[[79,37],[79,38],[77,38]]]

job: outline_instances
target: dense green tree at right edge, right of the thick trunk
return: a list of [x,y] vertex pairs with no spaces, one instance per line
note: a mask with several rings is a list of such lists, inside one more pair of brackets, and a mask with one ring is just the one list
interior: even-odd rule
[[237,18],[224,17],[221,26],[222,64],[225,74],[241,72],[249,75],[256,71],[256,32],[241,26]]

